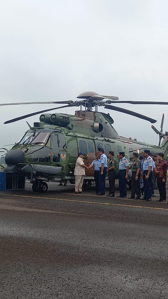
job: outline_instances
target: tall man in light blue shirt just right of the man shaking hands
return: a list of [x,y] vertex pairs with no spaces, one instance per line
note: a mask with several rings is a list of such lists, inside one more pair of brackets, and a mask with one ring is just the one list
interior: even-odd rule
[[100,192],[97,195],[105,195],[105,186],[106,186],[106,173],[107,173],[107,156],[104,153],[104,149],[99,148],[100,154],[100,170],[99,170],[99,190]]

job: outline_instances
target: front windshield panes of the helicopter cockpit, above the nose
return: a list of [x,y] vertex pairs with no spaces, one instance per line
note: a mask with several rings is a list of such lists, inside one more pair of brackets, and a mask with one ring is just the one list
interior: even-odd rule
[[50,133],[46,132],[28,132],[19,142],[19,144],[39,144],[50,147]]

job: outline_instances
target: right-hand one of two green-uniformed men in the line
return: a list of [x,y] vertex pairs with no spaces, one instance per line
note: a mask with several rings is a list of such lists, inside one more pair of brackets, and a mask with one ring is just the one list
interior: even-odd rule
[[131,196],[129,199],[140,199],[140,160],[138,159],[138,153],[133,153],[134,162],[132,164],[132,178],[131,178]]

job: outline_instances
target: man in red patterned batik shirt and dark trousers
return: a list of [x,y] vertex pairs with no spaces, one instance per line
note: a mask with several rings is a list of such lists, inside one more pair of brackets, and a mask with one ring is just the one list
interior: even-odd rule
[[156,179],[158,182],[158,189],[160,199],[157,202],[166,202],[166,180],[167,180],[167,162],[164,160],[164,154],[161,152],[158,154],[158,164],[156,168]]

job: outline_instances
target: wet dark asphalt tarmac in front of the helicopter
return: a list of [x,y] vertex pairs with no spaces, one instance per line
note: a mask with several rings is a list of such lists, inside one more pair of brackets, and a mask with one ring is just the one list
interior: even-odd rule
[[[168,205],[49,184],[0,193],[0,298],[168,298]],[[128,191],[129,195],[130,191]],[[116,195],[118,191],[116,192]]]

